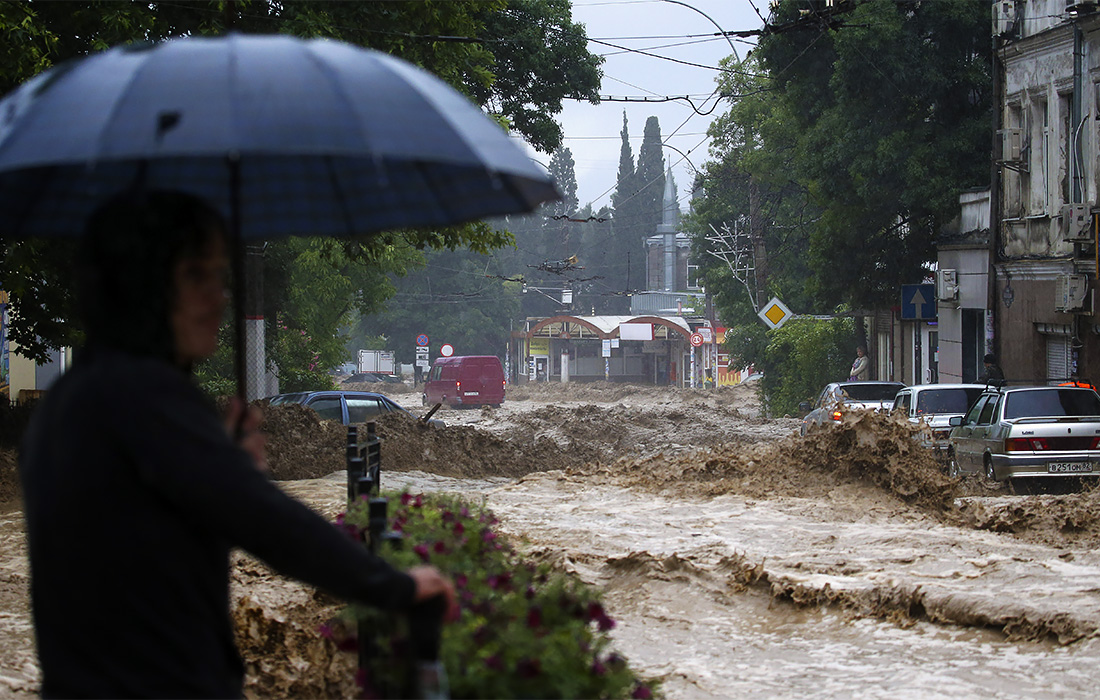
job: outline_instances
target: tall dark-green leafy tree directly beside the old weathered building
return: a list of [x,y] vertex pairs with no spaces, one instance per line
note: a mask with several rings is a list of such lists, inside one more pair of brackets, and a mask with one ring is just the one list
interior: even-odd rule
[[959,190],[988,182],[992,43],[985,3],[851,7],[840,21],[785,0],[757,53],[821,209],[813,292],[860,308],[919,281]]

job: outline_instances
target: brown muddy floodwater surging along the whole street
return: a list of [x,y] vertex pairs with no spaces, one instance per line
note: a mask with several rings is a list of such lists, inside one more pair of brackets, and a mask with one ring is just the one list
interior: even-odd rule
[[[394,397],[422,411],[418,394]],[[800,438],[747,387],[528,387],[437,416],[446,428],[380,420],[383,485],[485,503],[529,557],[597,587],[617,650],[668,698],[1098,696],[1100,493],[1087,483],[1015,495],[956,482],[903,423],[854,417]],[[343,428],[302,409],[266,429],[283,488],[340,512]],[[0,697],[29,697],[18,502],[0,558]],[[249,697],[340,696],[331,676],[346,669],[315,669],[331,601],[246,558],[233,586]]]

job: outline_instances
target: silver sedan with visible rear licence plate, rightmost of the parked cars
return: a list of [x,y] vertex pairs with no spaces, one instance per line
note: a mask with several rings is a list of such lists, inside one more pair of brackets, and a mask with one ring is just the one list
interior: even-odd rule
[[1087,386],[991,386],[950,424],[953,475],[1100,474],[1100,395]]

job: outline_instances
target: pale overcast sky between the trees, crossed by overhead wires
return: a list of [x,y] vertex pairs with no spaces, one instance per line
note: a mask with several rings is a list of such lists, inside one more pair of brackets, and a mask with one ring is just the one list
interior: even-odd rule
[[[768,0],[574,0],[573,20],[585,25],[588,51],[605,57],[601,95],[651,98],[686,95],[698,111],[708,112],[715,108],[715,99],[711,96],[717,87],[718,72],[698,66],[717,67],[718,61],[729,55],[729,42],[714,35],[718,28],[740,31],[763,25],[754,6],[768,17]],[[755,40],[730,39],[738,57],[745,58],[752,47],[749,42]],[[634,51],[625,51],[627,48]],[[656,56],[635,53],[638,51]],[[727,107],[719,103],[713,113],[702,116],[684,101],[604,100],[593,106],[566,100],[559,121],[565,133],[564,145],[576,162],[581,206],[592,203],[598,209],[610,204],[618,173],[619,132],[625,109],[635,163],[646,120],[658,118],[661,136],[671,146],[666,149],[666,163],[672,165],[681,208],[686,209],[693,179],[693,168],[688,161],[701,167],[707,160],[706,128]],[[673,147],[688,154],[688,161]],[[549,156],[537,154],[536,157],[549,163]]]

